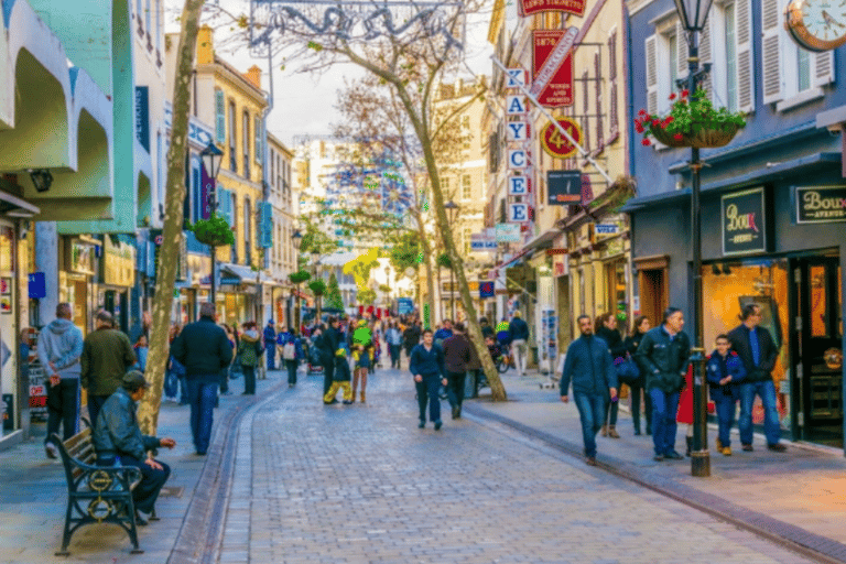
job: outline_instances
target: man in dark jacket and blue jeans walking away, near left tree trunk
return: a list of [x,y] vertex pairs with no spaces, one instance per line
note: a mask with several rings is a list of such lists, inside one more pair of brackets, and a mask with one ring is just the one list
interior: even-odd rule
[[171,355],[185,367],[191,404],[191,433],[198,455],[205,455],[212,438],[212,411],[217,398],[220,370],[232,361],[226,332],[215,323],[215,304],[199,306],[199,321],[189,323],[171,345]]

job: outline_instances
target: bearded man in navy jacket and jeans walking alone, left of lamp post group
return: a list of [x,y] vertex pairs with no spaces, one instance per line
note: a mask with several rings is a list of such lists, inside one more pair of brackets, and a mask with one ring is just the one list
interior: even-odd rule
[[579,315],[582,336],[570,344],[561,375],[561,401],[567,403],[567,391],[573,382],[573,398],[582,422],[585,443],[585,463],[596,466],[596,434],[605,422],[605,404],[617,401],[617,373],[608,344],[594,336],[590,317]]

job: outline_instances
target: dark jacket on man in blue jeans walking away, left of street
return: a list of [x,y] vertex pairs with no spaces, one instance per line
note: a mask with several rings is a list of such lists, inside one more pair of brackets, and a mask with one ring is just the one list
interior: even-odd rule
[[223,327],[210,317],[200,317],[182,329],[171,345],[171,355],[185,367],[188,380],[205,376],[216,382],[220,370],[232,361],[232,347]]

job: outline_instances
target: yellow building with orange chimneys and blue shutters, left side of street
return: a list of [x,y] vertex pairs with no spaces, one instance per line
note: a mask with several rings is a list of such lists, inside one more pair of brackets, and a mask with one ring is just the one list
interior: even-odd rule
[[[215,126],[215,143],[224,158],[217,176],[217,212],[235,231],[231,248],[218,247],[217,305],[221,319],[240,323],[260,317],[257,272],[265,269],[260,248],[259,204],[262,191],[264,155],[262,118],[268,108],[261,89],[261,69],[252,66],[240,73],[215,54],[212,28],[203,26],[197,37],[195,115]],[[263,274],[263,283],[267,274]]]

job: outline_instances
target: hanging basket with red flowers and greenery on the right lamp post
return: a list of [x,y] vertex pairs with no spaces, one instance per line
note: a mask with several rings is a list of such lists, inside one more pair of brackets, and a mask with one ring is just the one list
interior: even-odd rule
[[673,93],[670,99],[673,106],[668,116],[652,116],[643,109],[638,112],[634,130],[643,134],[642,144],[650,145],[651,135],[668,147],[724,147],[746,126],[742,111],[715,108],[702,87],[692,96],[686,89]]

